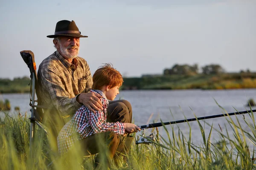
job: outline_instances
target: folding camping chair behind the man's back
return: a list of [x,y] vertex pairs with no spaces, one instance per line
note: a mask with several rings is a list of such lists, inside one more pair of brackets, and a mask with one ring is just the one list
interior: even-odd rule
[[[37,100],[35,99],[36,88],[37,88],[37,74],[36,74],[36,65],[34,53],[30,50],[20,51],[20,55],[23,58],[24,62],[26,62],[29,71],[30,71],[30,101],[29,105],[31,106],[31,117],[30,119],[30,139],[29,139],[29,150],[32,152],[33,140],[34,140],[34,131],[35,125],[38,125],[41,129],[44,130],[45,133],[48,134],[47,130],[42,126],[42,118],[44,115],[44,108],[46,106],[42,106],[40,99],[37,96]],[[35,105],[37,102],[38,105]],[[37,108],[37,109],[35,109]]]

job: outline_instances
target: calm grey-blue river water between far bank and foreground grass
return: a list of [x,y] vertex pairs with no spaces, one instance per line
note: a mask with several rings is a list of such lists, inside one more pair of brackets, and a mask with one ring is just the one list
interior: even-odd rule
[[[133,107],[133,119],[136,125],[146,125],[152,122],[170,122],[181,120],[186,117],[195,118],[201,116],[211,116],[224,113],[218,104],[224,108],[227,113],[237,111],[245,111],[250,109],[247,107],[247,101],[252,98],[256,99],[256,89],[239,89],[239,90],[134,90],[134,91],[120,91],[116,99],[126,99],[131,102]],[[0,99],[9,99],[12,110],[10,115],[17,114],[14,111],[15,106],[20,107],[20,113],[29,111],[29,94],[1,94]],[[218,102],[218,104],[216,102]],[[255,109],[255,107],[253,107]],[[2,115],[1,115],[2,114]],[[3,113],[0,112],[0,116]],[[245,114],[245,119],[251,122],[248,114]],[[206,135],[209,134],[210,127],[205,122],[213,125],[214,128],[219,130],[219,126],[223,131],[226,130],[232,134],[232,129],[228,126],[227,117],[201,120],[201,124],[205,128]],[[236,121],[236,116],[231,117]],[[237,116],[241,126],[245,130],[249,127],[244,123],[243,116]],[[251,122],[252,123],[252,122]],[[202,142],[201,132],[198,123],[189,123],[192,129],[192,141],[194,144]],[[227,127],[225,127],[225,125]],[[180,123],[176,125],[168,125],[167,129],[171,135],[172,127],[177,134],[178,128],[188,138],[189,126],[187,123]],[[163,127],[159,128],[160,135],[167,138],[167,134]],[[151,130],[146,130],[149,134]],[[140,134],[140,133],[137,133]],[[218,141],[219,134],[216,130],[212,132],[212,142]]]

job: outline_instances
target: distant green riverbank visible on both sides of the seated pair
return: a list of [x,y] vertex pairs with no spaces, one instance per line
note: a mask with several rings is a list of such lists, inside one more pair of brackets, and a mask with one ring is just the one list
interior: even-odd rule
[[[30,78],[0,79],[0,93],[29,93]],[[256,88],[256,73],[124,77],[122,90]]]

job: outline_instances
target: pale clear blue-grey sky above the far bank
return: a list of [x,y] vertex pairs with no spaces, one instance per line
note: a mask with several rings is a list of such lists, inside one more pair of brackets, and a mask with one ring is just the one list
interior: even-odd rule
[[0,78],[29,76],[55,51],[59,20],[74,20],[79,56],[92,74],[111,62],[126,77],[162,74],[174,64],[256,71],[256,0],[0,0]]

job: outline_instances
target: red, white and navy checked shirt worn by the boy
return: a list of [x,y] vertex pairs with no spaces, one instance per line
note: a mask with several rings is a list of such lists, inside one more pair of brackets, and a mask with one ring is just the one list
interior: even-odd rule
[[[99,93],[95,90],[91,90],[90,92]],[[103,96],[100,99],[103,104],[103,111],[96,111],[96,113],[93,113],[86,106],[82,105],[81,108],[76,111],[72,119],[64,125],[57,137],[59,153],[67,153],[74,142],[95,133],[107,131],[113,131],[118,135],[125,133],[124,123],[106,122],[108,100],[103,92],[99,94]]]

